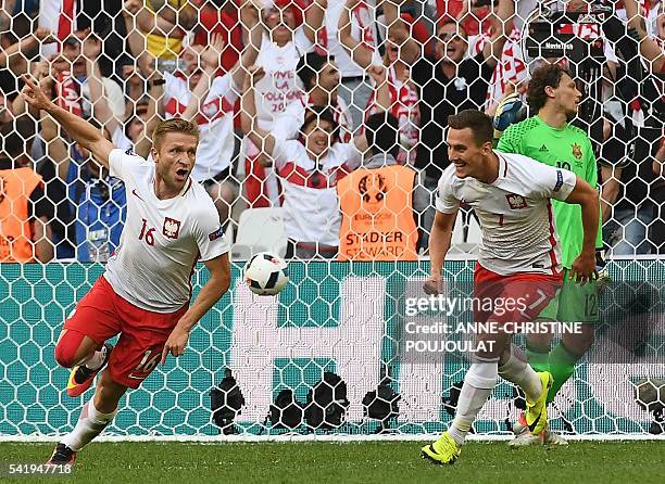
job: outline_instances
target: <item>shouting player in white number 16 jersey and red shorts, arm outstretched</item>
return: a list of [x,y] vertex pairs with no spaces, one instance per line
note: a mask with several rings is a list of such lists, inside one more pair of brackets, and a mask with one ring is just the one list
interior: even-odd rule
[[[166,356],[185,353],[195,324],[230,284],[228,243],[212,199],[192,181],[198,127],[184,119],[158,125],[148,162],[115,149],[91,124],[55,105],[29,78],[22,95],[43,110],[89,150],[111,176],[125,182],[127,221],[106,270],[64,323],[55,359],[72,368],[67,394],[97,382],[74,430],[49,463],[72,463],[111,423],[127,389],[137,389]],[[190,277],[198,260],[210,279],[189,307]],[[113,347],[106,340],[120,334]]]

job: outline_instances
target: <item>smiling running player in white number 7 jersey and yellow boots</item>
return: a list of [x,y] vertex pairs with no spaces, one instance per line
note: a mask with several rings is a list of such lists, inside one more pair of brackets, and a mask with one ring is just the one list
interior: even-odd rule
[[[430,244],[430,278],[425,292],[441,291],[441,267],[450,247],[460,202],[470,205],[480,221],[482,240],[474,273],[474,301],[494,301],[494,308],[474,307],[474,320],[493,326],[480,332],[479,351],[464,379],[457,410],[449,430],[422,456],[453,463],[476,416],[497,384],[497,377],[518,385],[526,395],[526,423],[536,434],[547,428],[545,399],[552,375],[537,373],[511,344],[510,326],[530,322],[561,286],[562,258],[552,215],[555,199],[581,205],[585,229],[581,253],[570,275],[580,283],[595,272],[598,193],[572,171],[527,156],[492,150],[493,127],[486,114],[466,110],[449,117],[451,165],[439,180]],[[507,310],[513,301],[514,310]]]

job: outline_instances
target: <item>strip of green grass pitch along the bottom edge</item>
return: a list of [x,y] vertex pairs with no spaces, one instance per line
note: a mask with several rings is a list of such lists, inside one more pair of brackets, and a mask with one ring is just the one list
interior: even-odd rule
[[[80,453],[66,482],[223,483],[663,483],[663,442],[573,442],[567,448],[511,449],[505,442],[468,443],[454,466],[418,457],[416,442],[361,443],[98,443]],[[0,444],[8,463],[43,462],[51,444]],[[57,477],[0,482],[65,482]]]

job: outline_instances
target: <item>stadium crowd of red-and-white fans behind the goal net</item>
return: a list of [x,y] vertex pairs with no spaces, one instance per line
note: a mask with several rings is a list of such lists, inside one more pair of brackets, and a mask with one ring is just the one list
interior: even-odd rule
[[[196,120],[191,177],[226,226],[243,209],[283,206],[289,255],[415,260],[450,163],[448,116],[493,115],[526,92],[536,63],[525,23],[552,2],[84,0],[49,13],[50,3],[2,2],[0,262],[104,262],[126,215],[123,183],[26,106],[25,74],[143,157],[160,119]],[[595,142],[603,238],[614,255],[658,254],[665,10],[604,3],[619,35],[574,26],[604,49],[602,89],[579,85],[602,115],[578,119]],[[379,249],[359,249],[373,238]]]

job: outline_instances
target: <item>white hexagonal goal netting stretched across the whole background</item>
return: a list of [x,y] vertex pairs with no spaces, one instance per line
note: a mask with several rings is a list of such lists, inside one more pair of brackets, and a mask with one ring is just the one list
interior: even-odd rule
[[[18,95],[26,73],[59,105],[141,156],[160,119],[195,120],[201,142],[192,177],[215,201],[233,259],[265,250],[292,256],[292,283],[278,298],[251,296],[236,284],[236,266],[231,294],[197,328],[188,354],[127,396],[112,433],[444,426],[452,404],[442,398],[464,364],[402,361],[397,348],[405,294],[428,271],[448,116],[464,109],[493,115],[513,92],[526,101],[542,58],[563,58],[582,92],[574,123],[592,140],[603,241],[617,259],[610,269],[617,285],[605,296],[620,307],[641,301],[626,289],[639,281],[657,294],[665,271],[653,260],[665,233],[663,2],[3,2],[0,434],[62,433],[75,422],[80,400],[61,396],[66,371],[53,347],[102,271],[88,263],[104,263],[116,249],[127,204],[122,181],[100,171],[52,118],[29,112]],[[377,147],[392,150],[390,167],[381,168]],[[575,148],[572,155],[574,163]],[[461,211],[451,255],[473,259],[479,242],[476,217]],[[473,263],[446,269],[468,283]],[[204,272],[195,273],[195,289]],[[555,428],[657,430],[663,318],[657,307],[641,314],[648,330],[639,347],[613,364],[599,349],[580,366],[555,400]],[[597,347],[617,344],[598,334]],[[331,407],[324,397],[312,402],[325,372],[346,384]],[[240,392],[229,392],[234,385]],[[498,386],[477,431],[505,431],[514,400],[512,386]],[[211,407],[221,408],[216,424]]]

